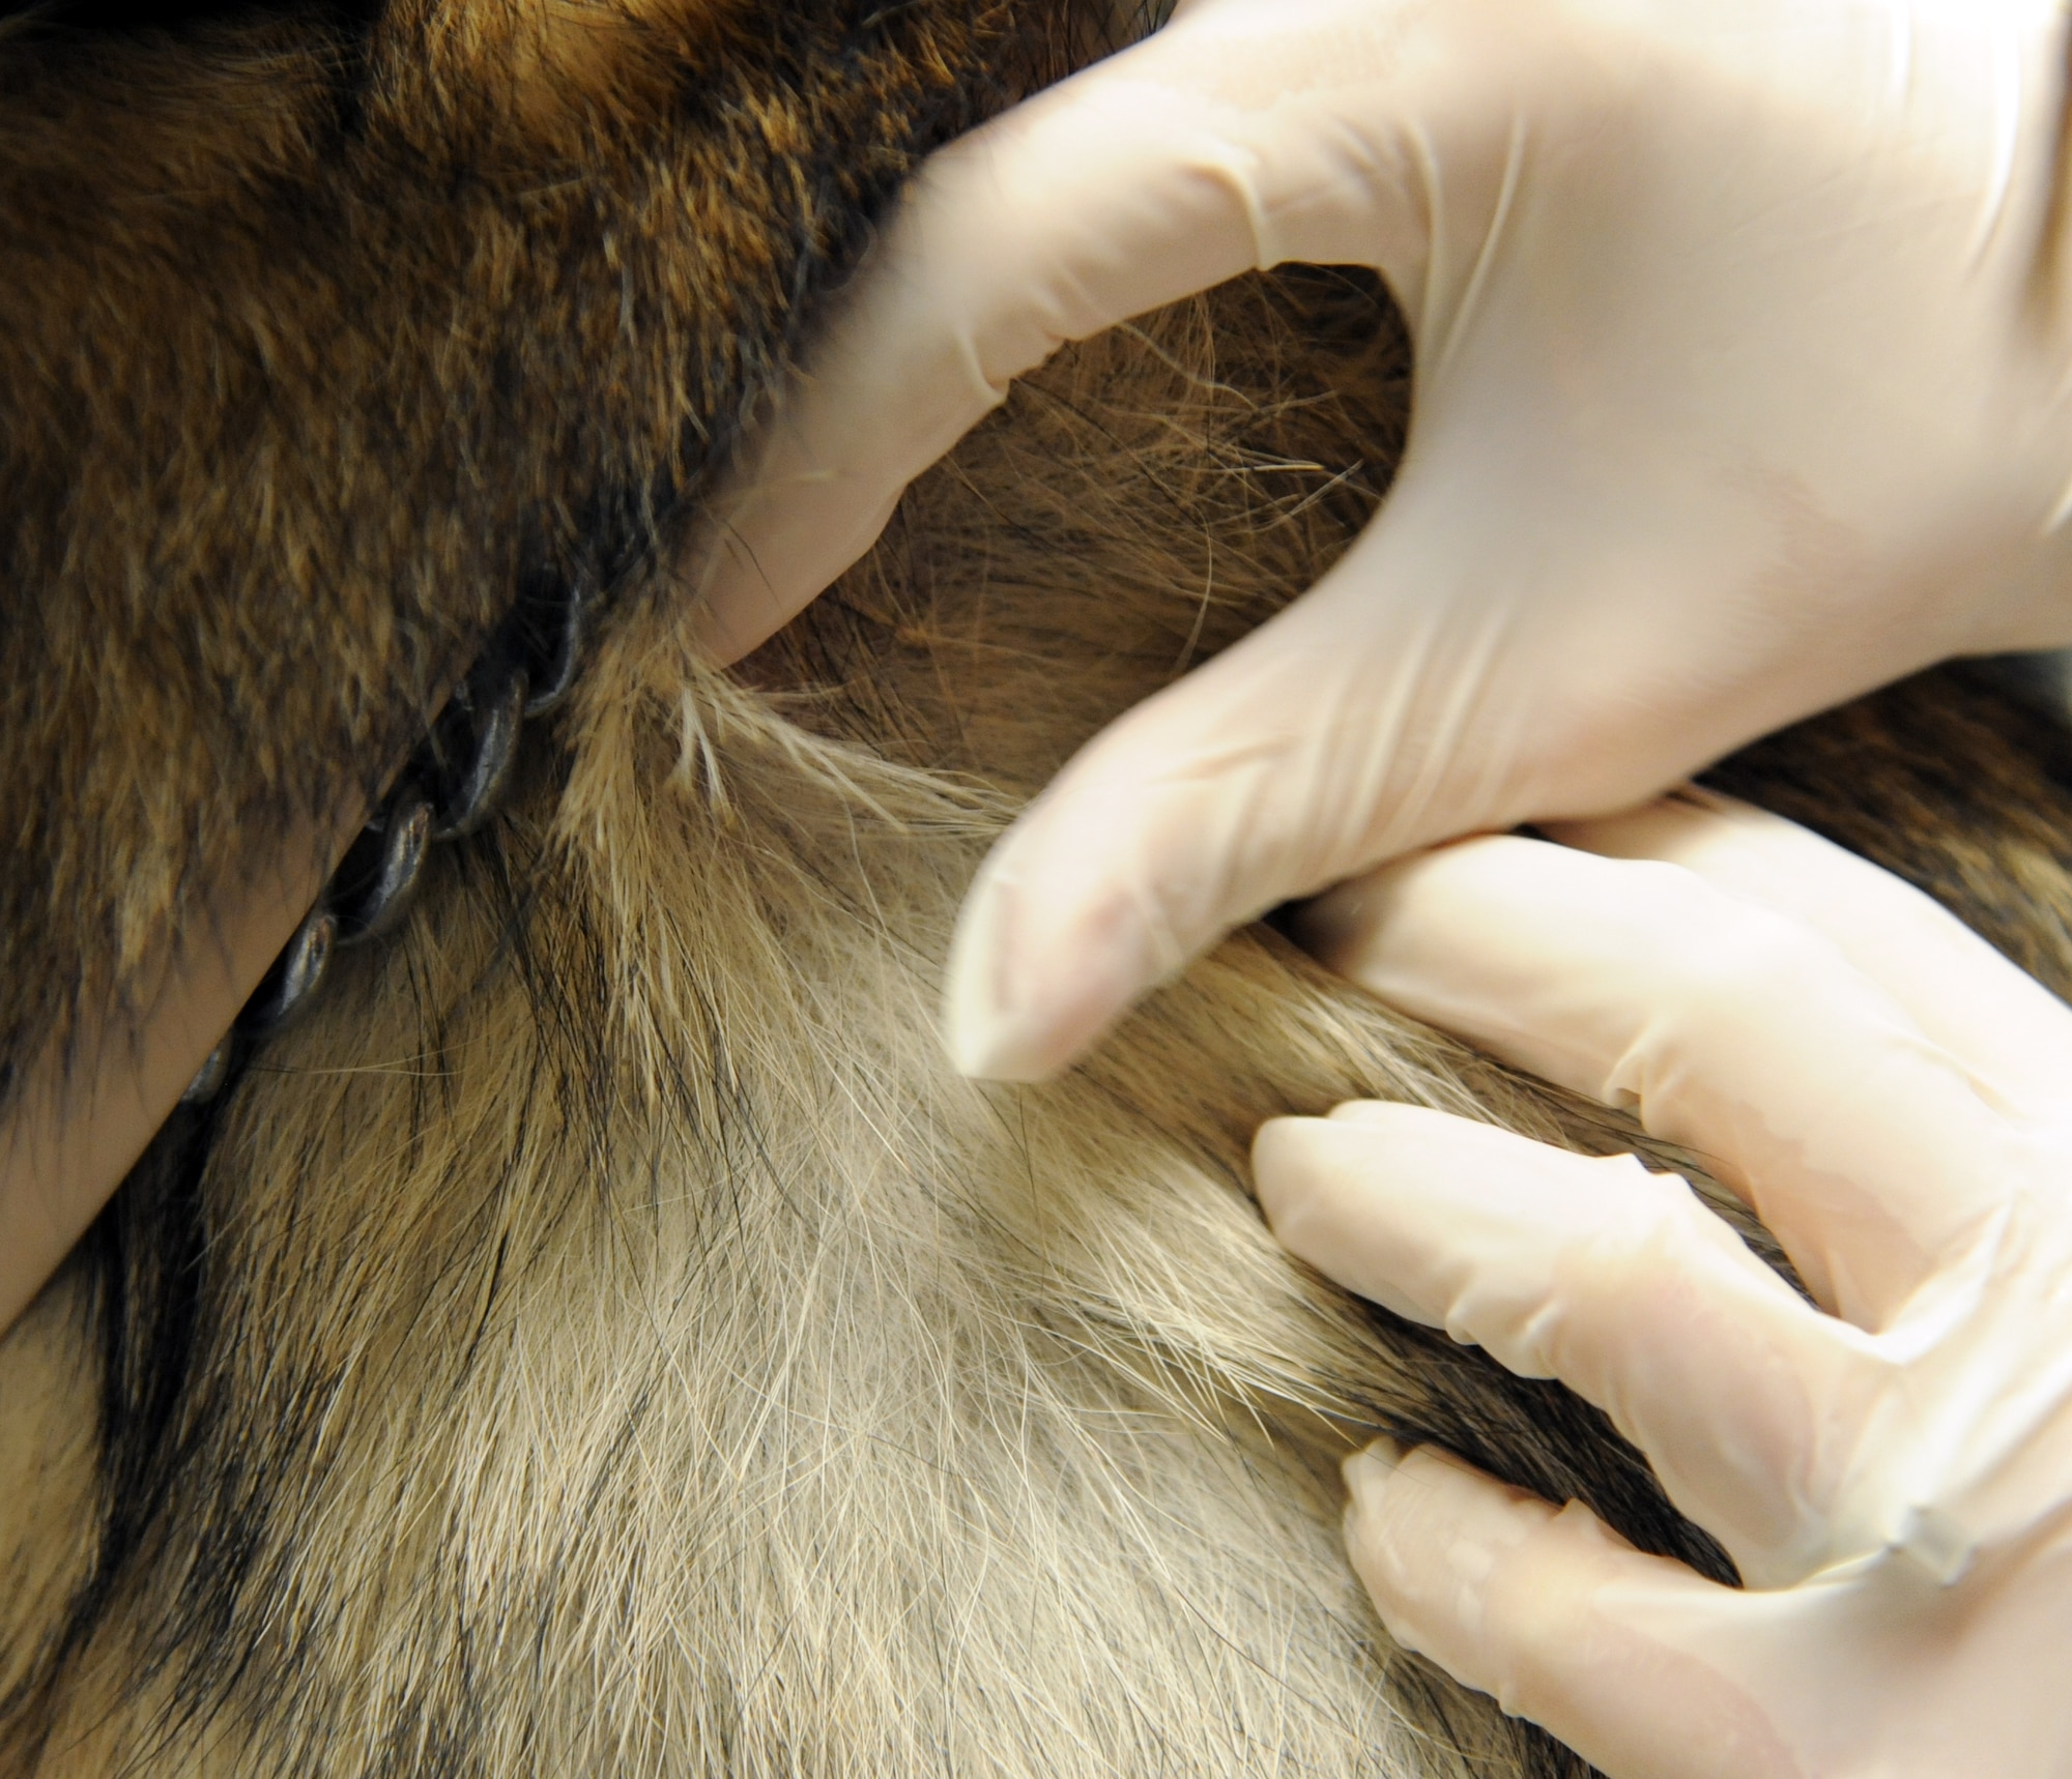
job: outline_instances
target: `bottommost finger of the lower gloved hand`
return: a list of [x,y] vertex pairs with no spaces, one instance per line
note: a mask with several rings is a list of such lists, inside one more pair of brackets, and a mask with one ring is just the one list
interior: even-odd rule
[[1759,1597],[1633,1549],[1587,1508],[1552,1508],[1430,1448],[1347,1466],[1347,1549],[1388,1634],[1608,1779],[1786,1779],[1805,1771],[1703,1638]]

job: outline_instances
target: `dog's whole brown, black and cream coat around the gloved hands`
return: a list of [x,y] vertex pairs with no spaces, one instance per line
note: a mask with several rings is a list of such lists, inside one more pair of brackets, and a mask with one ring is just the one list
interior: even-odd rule
[[[371,789],[535,561],[601,553],[613,586],[503,814],[222,1104],[176,1118],[0,1344],[0,1769],[1581,1773],[1388,1649],[1339,1549],[1339,1456],[1376,1429],[1440,1439],[1649,1549],[1724,1557],[1575,1398],[1293,1265],[1245,1147],[1274,1112],[1378,1093],[1691,1158],[1270,928],[1059,1083],[961,1081],[934,1040],[955,901],[1019,799],[1372,514],[1409,410],[1401,325],[1372,278],[1291,269],[1063,354],[831,596],[713,673],[684,640],[682,526],[812,292],[926,141],[1092,41],[972,8],[777,10],[570,39],[559,8],[524,29],[392,8],[361,39],[325,25],[321,52],[278,21],[0,46],[0,70],[21,58],[0,85],[35,95],[0,106],[0,213],[64,168],[70,197],[37,197],[52,242],[62,215],[131,215],[118,174],[178,157],[197,91],[197,203],[307,149],[296,193],[350,186],[321,213],[381,217],[305,253],[334,224],[282,199],[240,213],[242,257],[166,224],[124,273],[164,282],[122,313],[172,302],[166,267],[215,296],[110,360],[91,425],[77,391],[15,387],[114,352],[91,302],[0,346],[4,400],[41,427],[0,447],[31,491],[8,590],[54,613],[6,710],[62,683],[89,708],[8,719],[10,833],[56,849],[6,891],[8,955],[44,984],[0,990],[8,1031],[62,1031],[83,1004],[62,969],[120,984],[218,862]],[[883,60],[856,48],[891,29]],[[230,66],[305,122],[226,128]],[[821,110],[767,97],[816,81]],[[170,110],[133,133],[139,83]],[[334,186],[381,106],[416,147]],[[472,220],[427,199],[439,180]],[[528,232],[533,201],[559,222]],[[110,267],[118,240],[141,236],[75,261]],[[361,292],[338,371],[309,255]],[[209,406],[215,360],[303,375],[226,373]],[[95,480],[89,445],[128,410],[128,470]],[[75,570],[89,545],[102,567]],[[193,580],[160,609],[139,565],[164,561]],[[141,663],[162,686],[133,735]],[[2072,748],[1977,675],[1720,777],[2072,982]],[[118,926],[77,913],[104,905]]]

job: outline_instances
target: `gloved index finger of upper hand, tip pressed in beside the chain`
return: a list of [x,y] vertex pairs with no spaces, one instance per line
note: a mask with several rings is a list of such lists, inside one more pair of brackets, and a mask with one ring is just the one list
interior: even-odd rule
[[1413,327],[1459,309],[1517,178],[1521,35],[1200,4],[932,155],[711,507],[700,640],[731,661],[783,625],[1067,340],[1287,259],[1376,267]]

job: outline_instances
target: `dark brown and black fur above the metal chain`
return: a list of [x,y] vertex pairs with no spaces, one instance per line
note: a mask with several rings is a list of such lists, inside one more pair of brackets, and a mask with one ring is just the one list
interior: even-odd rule
[[528,580],[669,547],[874,209],[1075,19],[0,25],[0,1081],[350,826]]

